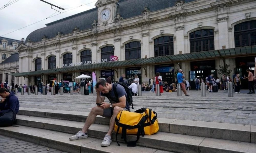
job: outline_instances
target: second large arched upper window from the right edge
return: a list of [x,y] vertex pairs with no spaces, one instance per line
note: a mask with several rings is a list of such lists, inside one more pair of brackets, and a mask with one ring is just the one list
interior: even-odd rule
[[190,53],[214,50],[214,33],[212,29],[202,29],[191,32]]

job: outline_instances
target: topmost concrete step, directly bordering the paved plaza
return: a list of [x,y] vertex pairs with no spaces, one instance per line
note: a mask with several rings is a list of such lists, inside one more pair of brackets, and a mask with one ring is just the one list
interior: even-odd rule
[[[20,108],[18,114],[48,119],[85,122],[89,113],[51,109]],[[256,126],[254,125],[164,118],[158,118],[158,122],[160,132],[256,143]],[[95,124],[109,125],[109,119],[97,116]]]

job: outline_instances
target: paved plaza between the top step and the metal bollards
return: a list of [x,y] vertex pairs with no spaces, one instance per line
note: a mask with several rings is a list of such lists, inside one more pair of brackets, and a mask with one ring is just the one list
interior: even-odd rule
[[[200,91],[190,90],[190,97],[177,97],[177,92],[164,92],[162,96],[143,91],[142,96],[134,96],[135,111],[142,107],[152,108],[159,118],[184,119],[210,122],[256,125],[256,94],[240,94],[228,97],[228,91],[209,93],[201,97]],[[89,112],[95,106],[96,96],[81,94],[61,95],[19,95],[20,107],[43,108]],[[108,101],[106,99],[105,101]]]

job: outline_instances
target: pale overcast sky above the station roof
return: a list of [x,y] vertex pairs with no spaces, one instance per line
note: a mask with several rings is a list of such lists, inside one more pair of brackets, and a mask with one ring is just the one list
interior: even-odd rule
[[[44,0],[46,2],[64,8],[65,10],[59,10],[56,7],[52,7],[62,12],[61,14],[56,10],[51,9],[51,5],[39,0],[18,0],[12,5],[1,9],[1,7],[6,5],[8,2],[14,1],[17,0],[0,0],[0,36],[17,40],[20,40],[20,38],[26,39],[29,33],[42,27],[46,27],[45,24],[47,23],[95,8],[94,5],[97,2],[97,0]],[[56,16],[46,19],[52,14]],[[43,21],[35,23],[40,20]],[[23,28],[27,25],[30,26]]]

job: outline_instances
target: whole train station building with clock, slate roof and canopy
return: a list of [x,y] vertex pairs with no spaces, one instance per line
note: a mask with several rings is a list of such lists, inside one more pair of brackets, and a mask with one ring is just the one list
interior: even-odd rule
[[80,74],[117,81],[135,74],[140,83],[175,70],[186,79],[254,70],[256,3],[253,0],[99,0],[95,8],[46,24],[17,47],[19,84]]

